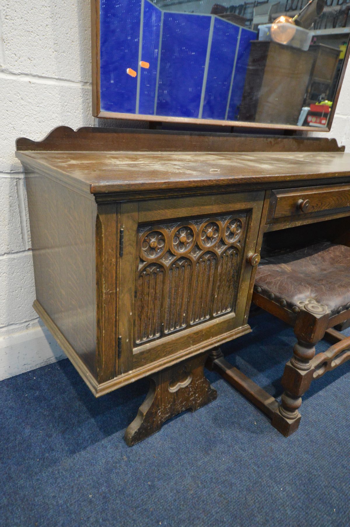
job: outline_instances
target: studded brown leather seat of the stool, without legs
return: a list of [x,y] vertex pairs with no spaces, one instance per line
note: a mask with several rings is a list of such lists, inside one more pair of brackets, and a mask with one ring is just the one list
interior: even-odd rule
[[262,259],[254,290],[295,311],[311,298],[332,316],[350,309],[350,247],[322,242]]

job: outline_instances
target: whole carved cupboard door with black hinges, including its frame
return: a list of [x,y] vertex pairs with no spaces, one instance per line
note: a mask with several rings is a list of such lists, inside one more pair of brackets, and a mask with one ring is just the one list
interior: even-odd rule
[[263,199],[239,192],[121,204],[119,375],[229,340],[246,324],[247,255]]

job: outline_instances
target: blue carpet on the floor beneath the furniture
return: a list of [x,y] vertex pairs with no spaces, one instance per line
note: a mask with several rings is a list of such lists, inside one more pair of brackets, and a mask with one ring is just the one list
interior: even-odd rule
[[[267,314],[251,325],[227,358],[280,395],[293,330]],[[348,527],[350,362],[313,383],[289,438],[207,376],[217,401],[132,448],[145,380],[95,399],[68,360],[3,380],[0,524]]]

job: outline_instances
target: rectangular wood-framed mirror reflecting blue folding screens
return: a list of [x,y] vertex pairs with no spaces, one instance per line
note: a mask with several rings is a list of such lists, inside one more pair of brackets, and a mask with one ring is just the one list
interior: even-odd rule
[[342,0],[92,0],[93,113],[331,128],[350,34]]

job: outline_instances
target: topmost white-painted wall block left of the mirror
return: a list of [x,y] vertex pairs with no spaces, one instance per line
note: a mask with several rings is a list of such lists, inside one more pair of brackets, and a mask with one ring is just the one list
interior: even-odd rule
[[2,0],[4,70],[91,81],[90,3]]

